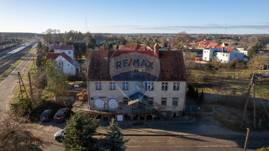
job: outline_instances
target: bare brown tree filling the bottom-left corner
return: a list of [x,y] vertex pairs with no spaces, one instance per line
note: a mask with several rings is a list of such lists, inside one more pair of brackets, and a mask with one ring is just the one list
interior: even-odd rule
[[13,113],[0,112],[0,149],[42,151],[51,146],[52,142],[45,141],[42,136],[31,131],[35,126],[30,123],[29,114],[25,116],[21,107],[16,109]]

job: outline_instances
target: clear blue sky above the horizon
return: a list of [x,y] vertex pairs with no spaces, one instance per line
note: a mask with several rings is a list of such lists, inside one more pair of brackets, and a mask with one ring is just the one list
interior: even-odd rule
[[[267,34],[269,0],[0,0],[0,32]],[[86,17],[85,17],[86,13]]]

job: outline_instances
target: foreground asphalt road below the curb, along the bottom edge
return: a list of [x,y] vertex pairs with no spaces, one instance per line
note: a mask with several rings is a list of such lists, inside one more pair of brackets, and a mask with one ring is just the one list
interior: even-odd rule
[[[45,134],[47,133],[47,135]],[[54,134],[45,132],[43,134],[48,136],[47,139],[52,138]],[[99,137],[99,136],[95,136]],[[240,151],[244,150],[245,136],[125,136],[124,138],[131,138],[125,144],[126,151],[209,151],[209,150],[229,150]],[[47,148],[48,151],[64,150],[62,143],[54,142],[52,147]],[[262,146],[268,146],[268,137],[249,137],[247,144],[247,151],[255,151]]]

